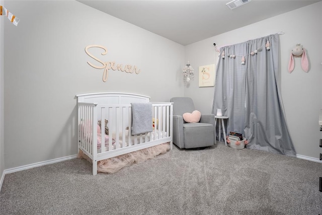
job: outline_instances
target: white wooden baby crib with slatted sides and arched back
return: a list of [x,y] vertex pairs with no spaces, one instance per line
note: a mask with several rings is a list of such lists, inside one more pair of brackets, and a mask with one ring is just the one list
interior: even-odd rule
[[[153,102],[153,131],[132,135],[131,103],[150,102],[150,97],[129,93],[91,93],[76,97],[77,151],[82,150],[92,160],[93,175],[97,174],[97,162],[101,160],[167,142],[172,150],[173,103]],[[108,138],[104,130],[105,119],[108,120]],[[97,132],[98,120],[102,122],[101,133]],[[101,146],[98,146],[98,139],[101,139]]]

